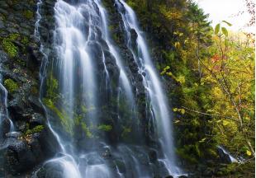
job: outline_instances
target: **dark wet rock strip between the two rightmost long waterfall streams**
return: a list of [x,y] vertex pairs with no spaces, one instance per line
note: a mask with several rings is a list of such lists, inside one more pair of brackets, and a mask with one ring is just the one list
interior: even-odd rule
[[[131,87],[133,88],[133,93],[135,95],[135,102],[137,104],[138,110],[138,123],[139,129],[136,132],[142,133],[141,137],[138,135],[130,134],[130,138],[132,139],[132,143],[142,143],[142,144],[151,144],[155,142],[154,131],[149,128],[149,120],[151,120],[147,112],[149,112],[149,108],[147,108],[147,94],[146,88],[143,83],[143,73],[139,73],[139,66],[135,62],[134,55],[130,52],[130,49],[127,47],[127,39],[126,39],[126,29],[123,24],[121,14],[118,12],[118,7],[114,0],[104,0],[104,5],[107,8],[108,18],[109,18],[109,29],[111,33],[111,38],[114,40],[117,48],[119,49],[119,54],[121,59],[123,59],[123,65],[126,66],[126,73],[131,81]],[[125,11],[125,9],[121,8],[119,11]],[[132,48],[136,48],[136,40],[137,34],[134,29],[130,29],[130,44]],[[145,73],[144,73],[145,74]],[[123,123],[120,123],[123,124]],[[135,130],[135,128],[132,128]],[[151,135],[151,136],[150,136]],[[121,138],[121,141],[128,141],[126,138]]]

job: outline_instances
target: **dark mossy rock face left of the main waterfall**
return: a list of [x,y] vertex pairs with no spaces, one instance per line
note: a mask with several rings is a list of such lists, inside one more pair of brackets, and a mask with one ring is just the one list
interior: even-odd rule
[[[45,125],[45,110],[39,101],[40,41],[34,35],[36,0],[0,1],[0,74],[8,91],[10,122],[2,119],[0,175],[19,175],[31,171],[55,153],[55,138]],[[49,16],[55,1],[46,0],[42,11]],[[40,30],[50,39],[46,27]],[[0,103],[2,105],[2,103]],[[3,168],[4,167],[4,168]]]

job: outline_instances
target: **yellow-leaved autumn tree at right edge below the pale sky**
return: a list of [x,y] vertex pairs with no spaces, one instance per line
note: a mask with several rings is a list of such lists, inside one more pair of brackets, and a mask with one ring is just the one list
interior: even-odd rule
[[213,125],[226,136],[226,143],[231,138],[239,152],[255,157],[254,45],[229,38],[224,24],[231,26],[226,21],[216,25],[211,59],[200,61],[204,68],[201,82],[211,84],[215,101],[211,111],[219,115]]

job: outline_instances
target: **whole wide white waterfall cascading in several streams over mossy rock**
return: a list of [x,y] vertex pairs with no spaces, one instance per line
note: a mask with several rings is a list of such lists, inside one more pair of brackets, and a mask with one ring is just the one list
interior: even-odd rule
[[[127,49],[144,76],[141,83],[147,96],[142,108],[147,114],[141,116],[137,110],[141,105],[137,81],[111,40],[102,2],[58,0],[54,42],[50,50],[41,45],[45,59],[40,73],[40,101],[60,146],[56,157],[45,162],[45,169],[51,167],[50,176],[55,177],[53,170],[59,172],[59,167],[61,177],[67,178],[178,174],[170,115],[159,78],[134,12],[125,2],[116,4],[126,27]],[[38,17],[36,28],[40,26],[39,12]],[[138,35],[135,46],[131,44],[130,29]],[[39,30],[36,35],[40,35]],[[144,117],[150,119],[149,123],[140,123],[147,122]],[[143,138],[150,132],[141,125],[159,130],[159,140],[150,145],[149,139]]]

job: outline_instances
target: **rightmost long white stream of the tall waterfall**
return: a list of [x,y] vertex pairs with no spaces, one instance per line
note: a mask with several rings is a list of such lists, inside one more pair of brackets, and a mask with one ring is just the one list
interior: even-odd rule
[[[118,4],[119,11],[122,16],[126,28],[126,37],[127,37],[127,46],[134,55],[134,58],[137,59],[138,66],[140,67],[140,73],[147,73],[147,77],[144,77],[145,86],[149,91],[149,96],[151,99],[151,105],[154,110],[154,118],[158,124],[160,135],[160,143],[164,149],[164,154],[166,156],[165,162],[168,166],[168,170],[171,174],[179,174],[180,171],[175,165],[175,155],[173,147],[173,138],[172,138],[172,127],[171,127],[171,117],[168,112],[168,104],[164,96],[164,91],[162,90],[159,78],[154,71],[153,64],[149,56],[149,49],[145,43],[143,37],[143,32],[138,26],[136,20],[135,12],[122,0],[116,0]],[[122,9],[125,11],[122,11]],[[131,44],[130,30],[135,30],[137,36],[137,48],[133,48]]]

